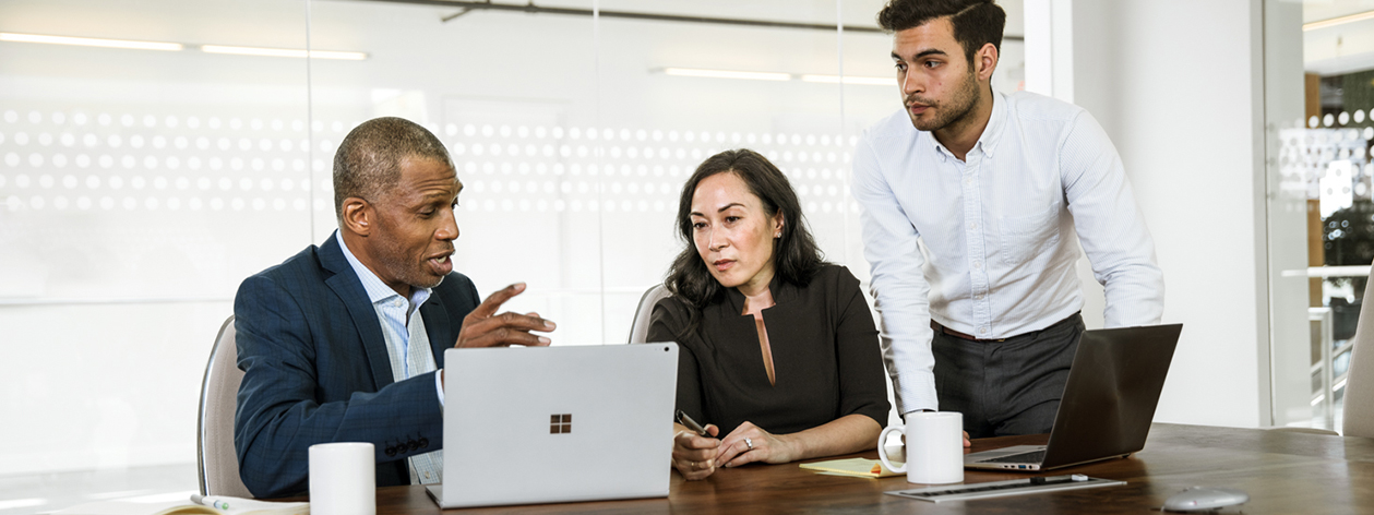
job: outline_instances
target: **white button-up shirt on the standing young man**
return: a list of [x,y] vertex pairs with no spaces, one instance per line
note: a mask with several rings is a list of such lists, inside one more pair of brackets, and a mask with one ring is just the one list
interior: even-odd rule
[[901,413],[938,408],[932,319],[996,339],[1081,310],[1080,243],[1106,287],[1106,327],[1164,313],[1164,275],[1121,158],[1081,107],[995,92],[965,161],[897,111],[859,140],[853,195]]

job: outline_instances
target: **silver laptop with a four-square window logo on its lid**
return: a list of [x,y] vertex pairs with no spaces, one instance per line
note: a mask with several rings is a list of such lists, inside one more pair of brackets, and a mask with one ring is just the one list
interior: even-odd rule
[[441,508],[666,497],[677,345],[444,352]]

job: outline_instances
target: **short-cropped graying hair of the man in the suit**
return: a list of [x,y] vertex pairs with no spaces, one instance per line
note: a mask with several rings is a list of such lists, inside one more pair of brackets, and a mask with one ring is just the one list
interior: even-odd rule
[[334,152],[334,216],[344,221],[344,199],[376,202],[401,181],[401,161],[434,159],[453,166],[444,143],[405,118],[372,118],[344,136]]

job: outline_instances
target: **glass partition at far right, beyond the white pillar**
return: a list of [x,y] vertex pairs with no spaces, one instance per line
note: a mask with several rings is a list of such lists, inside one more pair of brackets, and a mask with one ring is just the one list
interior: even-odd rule
[[1265,1],[1274,423],[1341,430],[1370,261],[1374,16],[1367,1]]

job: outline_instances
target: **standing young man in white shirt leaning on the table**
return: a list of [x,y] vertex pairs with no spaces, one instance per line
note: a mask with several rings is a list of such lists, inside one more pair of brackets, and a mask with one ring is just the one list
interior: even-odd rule
[[1079,243],[1107,327],[1164,312],[1121,158],[1083,108],[992,91],[991,0],[892,0],[878,23],[904,110],[859,141],[853,192],[899,411],[962,412],[973,438],[1048,433],[1083,332]]

